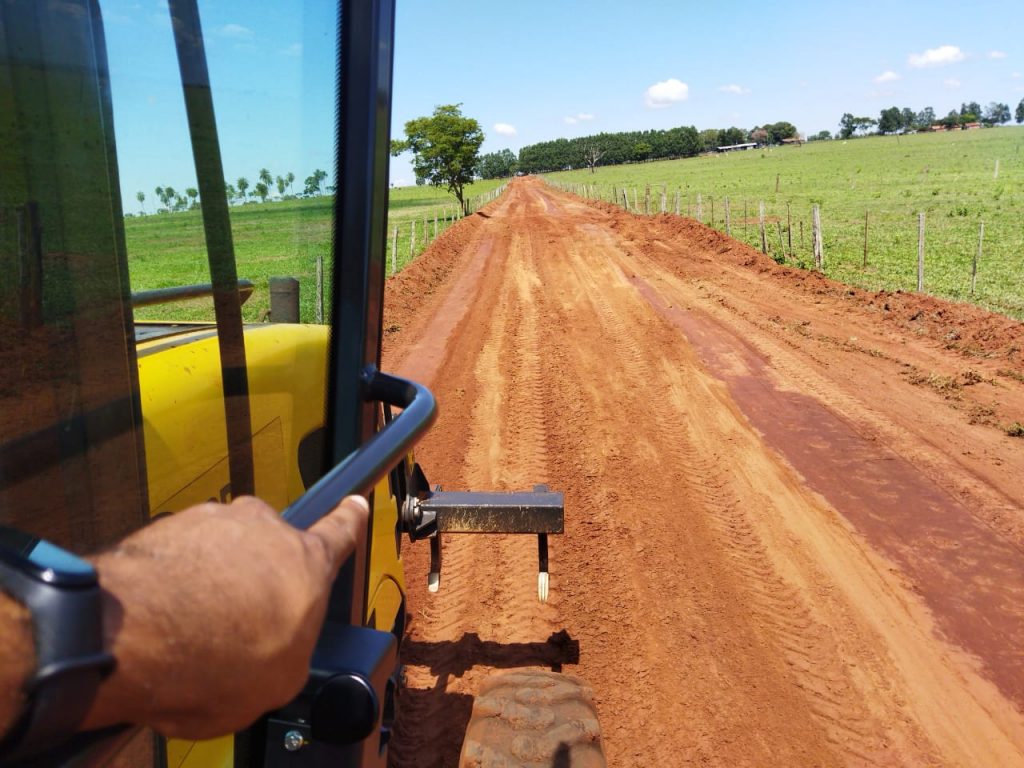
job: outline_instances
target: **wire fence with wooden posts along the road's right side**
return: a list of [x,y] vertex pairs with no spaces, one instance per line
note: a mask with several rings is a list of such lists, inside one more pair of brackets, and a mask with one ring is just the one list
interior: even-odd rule
[[[1024,221],[983,221],[966,206],[871,210],[684,193],[644,186],[547,182],[643,216],[686,216],[801,269],[873,291],[924,291],[1024,318]],[[819,225],[814,224],[818,211]],[[819,250],[815,253],[815,236]],[[919,265],[919,254],[922,256]]]

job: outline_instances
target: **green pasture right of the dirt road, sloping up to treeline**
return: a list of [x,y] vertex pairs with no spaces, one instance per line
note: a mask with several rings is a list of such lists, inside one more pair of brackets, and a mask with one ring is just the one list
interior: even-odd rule
[[[825,272],[872,290],[915,290],[918,214],[924,213],[925,291],[973,300],[1024,318],[1022,144],[1024,128],[1015,126],[819,141],[609,166],[593,174],[587,170],[553,173],[548,178],[563,184],[596,185],[606,200],[612,186],[620,190],[620,198],[625,187],[631,205],[635,188],[641,210],[646,185],[652,187],[654,210],[659,209],[665,185],[668,208],[674,211],[678,190],[683,215],[687,211],[696,215],[699,194],[702,220],[719,229],[725,228],[723,199],[729,198],[732,237],[759,248],[758,204],[764,201],[770,253],[794,266],[808,266],[813,261],[811,207],[818,204]],[[985,223],[984,246],[972,298],[971,262],[978,250],[981,221]]]

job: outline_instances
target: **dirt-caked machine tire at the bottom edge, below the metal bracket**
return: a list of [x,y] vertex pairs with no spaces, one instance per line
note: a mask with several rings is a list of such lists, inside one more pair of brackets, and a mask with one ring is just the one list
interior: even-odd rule
[[605,768],[594,691],[580,678],[521,670],[493,675],[473,701],[460,768]]

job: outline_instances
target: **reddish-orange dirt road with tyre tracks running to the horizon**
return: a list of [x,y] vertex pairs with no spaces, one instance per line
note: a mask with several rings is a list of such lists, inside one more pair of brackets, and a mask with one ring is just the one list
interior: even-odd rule
[[1024,765],[1021,324],[534,179],[387,301],[431,482],[566,498],[546,605],[529,539],[446,538],[437,594],[407,548],[396,765],[530,666],[593,685],[610,765]]

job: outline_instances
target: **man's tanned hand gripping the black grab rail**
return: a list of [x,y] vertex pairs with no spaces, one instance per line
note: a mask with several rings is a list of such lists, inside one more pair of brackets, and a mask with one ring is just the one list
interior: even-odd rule
[[288,702],[368,514],[366,500],[349,497],[303,532],[258,499],[211,502],[94,558],[118,666],[83,727],[208,738]]

